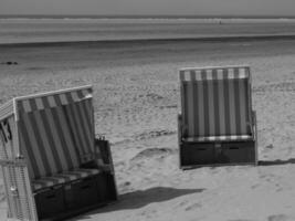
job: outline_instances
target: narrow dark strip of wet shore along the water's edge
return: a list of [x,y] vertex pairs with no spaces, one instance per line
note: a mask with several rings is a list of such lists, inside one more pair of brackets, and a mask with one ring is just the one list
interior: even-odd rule
[[249,42],[249,41],[280,41],[295,40],[295,34],[270,35],[233,35],[233,36],[204,36],[204,38],[170,38],[170,39],[124,39],[124,40],[97,40],[97,41],[56,41],[56,42],[21,42],[0,43],[0,48],[46,48],[46,46],[80,46],[80,45],[126,45],[126,44],[160,44],[173,42]]

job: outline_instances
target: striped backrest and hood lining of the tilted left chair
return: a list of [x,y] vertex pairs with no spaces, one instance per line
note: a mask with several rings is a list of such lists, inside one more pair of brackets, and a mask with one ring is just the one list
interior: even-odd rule
[[32,179],[72,170],[95,158],[89,93],[18,101],[20,147]]

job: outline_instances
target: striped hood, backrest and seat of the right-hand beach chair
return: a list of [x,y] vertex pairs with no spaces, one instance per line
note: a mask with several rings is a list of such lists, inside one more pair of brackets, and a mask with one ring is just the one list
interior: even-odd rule
[[183,138],[207,141],[252,137],[247,66],[183,69],[180,82]]

